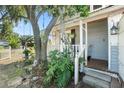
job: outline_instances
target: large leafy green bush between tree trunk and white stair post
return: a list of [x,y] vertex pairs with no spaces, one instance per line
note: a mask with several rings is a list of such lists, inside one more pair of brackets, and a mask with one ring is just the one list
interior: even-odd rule
[[44,77],[44,85],[51,84],[56,87],[66,87],[73,75],[73,63],[70,60],[70,55],[64,51],[51,51],[48,70]]

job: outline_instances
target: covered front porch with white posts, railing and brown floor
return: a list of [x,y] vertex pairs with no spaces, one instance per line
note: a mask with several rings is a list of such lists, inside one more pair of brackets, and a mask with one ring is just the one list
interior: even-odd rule
[[[74,57],[79,56],[80,52],[83,51],[81,56],[85,58],[87,67],[108,70],[107,18],[87,23],[80,21],[79,24],[66,28],[65,33],[70,38]],[[61,50],[60,38],[60,31],[53,32],[53,40],[51,40],[53,45],[48,47],[48,51]],[[68,46],[66,47],[68,48]],[[88,61],[88,56],[91,57],[90,61]]]

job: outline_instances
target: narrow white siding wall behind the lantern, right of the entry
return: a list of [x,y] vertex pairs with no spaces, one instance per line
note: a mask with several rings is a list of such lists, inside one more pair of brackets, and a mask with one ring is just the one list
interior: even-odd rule
[[114,25],[117,26],[117,23],[120,21],[121,14],[113,15],[108,17],[108,32],[109,36],[109,70],[118,72],[119,71],[119,41],[118,34],[111,35],[111,28]]

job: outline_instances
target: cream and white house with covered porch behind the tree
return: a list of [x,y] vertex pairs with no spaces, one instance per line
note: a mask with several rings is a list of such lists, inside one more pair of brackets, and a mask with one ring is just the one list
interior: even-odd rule
[[[78,82],[79,57],[104,60],[107,71],[119,73],[124,81],[124,6],[90,5],[88,17],[79,15],[64,21],[65,33],[71,38],[75,47],[75,84]],[[119,27],[118,27],[119,25]],[[48,51],[61,49],[60,22],[52,29]]]

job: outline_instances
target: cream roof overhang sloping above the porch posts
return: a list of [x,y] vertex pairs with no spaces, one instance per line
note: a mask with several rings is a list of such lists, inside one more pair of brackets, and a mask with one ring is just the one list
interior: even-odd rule
[[[79,26],[80,20],[82,20],[84,23],[85,22],[92,22],[95,20],[107,18],[109,16],[119,14],[124,12],[124,6],[123,5],[115,5],[107,8],[100,9],[98,11],[92,12],[89,14],[88,17],[83,17],[81,18],[79,15],[74,16],[72,18],[66,19],[65,20],[65,28],[71,28],[74,26]],[[59,19],[58,19],[59,20]],[[56,25],[54,26],[53,30],[60,30],[60,22],[57,22]]]

